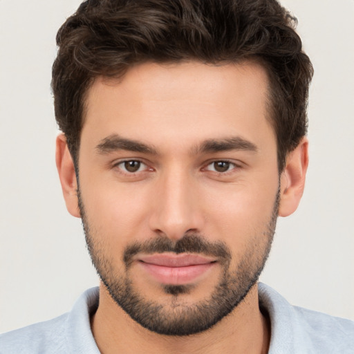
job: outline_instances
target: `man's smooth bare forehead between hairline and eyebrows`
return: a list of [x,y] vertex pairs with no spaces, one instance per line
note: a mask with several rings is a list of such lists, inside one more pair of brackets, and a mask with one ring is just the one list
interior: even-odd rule
[[272,134],[267,91],[265,69],[253,62],[140,64],[119,80],[95,80],[86,97],[82,137],[115,133],[156,144],[171,139],[192,144],[227,133],[257,139],[264,129]]

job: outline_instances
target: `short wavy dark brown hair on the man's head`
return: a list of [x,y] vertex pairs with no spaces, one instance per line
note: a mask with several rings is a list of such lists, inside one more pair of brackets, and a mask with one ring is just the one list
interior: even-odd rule
[[77,162],[84,100],[98,76],[120,77],[143,62],[252,59],[268,71],[278,165],[306,135],[313,66],[296,19],[275,0],[88,0],[57,33],[55,117]]

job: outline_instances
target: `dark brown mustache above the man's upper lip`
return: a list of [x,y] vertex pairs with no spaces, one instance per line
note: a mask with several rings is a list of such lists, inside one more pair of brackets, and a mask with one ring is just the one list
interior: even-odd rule
[[139,253],[196,253],[205,256],[216,257],[221,263],[229,263],[231,259],[230,249],[222,241],[210,242],[205,237],[197,234],[186,234],[178,241],[171,241],[166,236],[156,239],[135,242],[124,250],[123,261],[128,267],[133,262],[133,257]]

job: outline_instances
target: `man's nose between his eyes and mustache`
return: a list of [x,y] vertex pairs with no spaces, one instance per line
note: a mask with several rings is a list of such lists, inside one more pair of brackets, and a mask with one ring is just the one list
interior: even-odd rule
[[180,169],[166,172],[156,181],[154,192],[149,219],[154,233],[178,241],[187,232],[202,232],[203,198],[192,176]]

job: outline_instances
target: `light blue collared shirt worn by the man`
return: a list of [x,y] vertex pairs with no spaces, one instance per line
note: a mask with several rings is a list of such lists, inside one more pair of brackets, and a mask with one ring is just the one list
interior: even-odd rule
[[[272,326],[269,354],[354,354],[354,322],[291,306],[263,283],[259,299]],[[90,327],[97,305],[98,288],[86,290],[70,313],[0,335],[0,354],[100,354]]]

